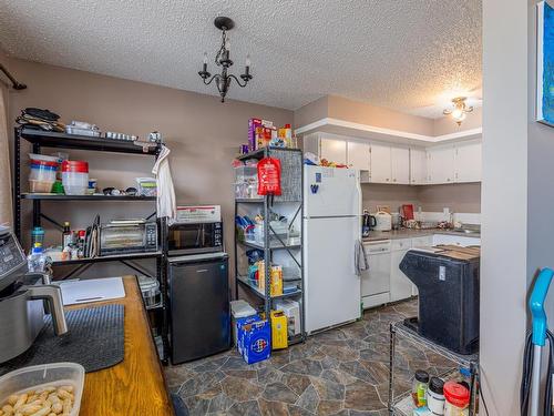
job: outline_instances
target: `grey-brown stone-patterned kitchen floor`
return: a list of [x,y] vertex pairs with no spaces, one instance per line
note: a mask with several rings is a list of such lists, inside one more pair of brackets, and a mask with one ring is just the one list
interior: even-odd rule
[[[247,365],[235,349],[165,369],[191,415],[384,416],[389,323],[417,315],[417,301],[371,310],[363,319]],[[398,392],[418,368],[437,374],[444,358],[398,343]]]

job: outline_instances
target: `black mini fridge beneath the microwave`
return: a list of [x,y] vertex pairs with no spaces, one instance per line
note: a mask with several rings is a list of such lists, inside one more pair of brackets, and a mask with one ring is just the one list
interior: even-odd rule
[[173,364],[230,347],[228,257],[170,258],[170,345]]

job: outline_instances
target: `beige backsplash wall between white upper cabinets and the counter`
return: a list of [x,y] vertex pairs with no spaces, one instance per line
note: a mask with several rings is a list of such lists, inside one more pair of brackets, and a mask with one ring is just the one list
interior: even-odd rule
[[377,205],[389,205],[397,212],[402,204],[413,204],[416,210],[442,212],[444,207],[454,213],[481,212],[481,184],[460,183],[450,185],[387,185],[362,184],[363,209],[376,211]]

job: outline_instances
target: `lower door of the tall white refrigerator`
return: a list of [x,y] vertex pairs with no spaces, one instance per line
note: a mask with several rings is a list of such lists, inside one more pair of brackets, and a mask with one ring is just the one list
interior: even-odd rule
[[360,317],[355,272],[357,217],[304,220],[306,329],[311,333]]

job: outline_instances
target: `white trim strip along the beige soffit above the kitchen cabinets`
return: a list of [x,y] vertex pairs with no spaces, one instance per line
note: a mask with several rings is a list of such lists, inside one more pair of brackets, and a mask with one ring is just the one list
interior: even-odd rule
[[414,140],[414,141],[425,142],[425,143],[440,143],[440,142],[455,140],[455,139],[463,139],[463,138],[474,136],[474,135],[481,134],[483,132],[482,128],[476,128],[476,129],[463,130],[460,132],[442,134],[442,135],[427,135],[427,134],[410,133],[410,132],[401,131],[401,130],[378,128],[376,125],[353,123],[350,121],[345,121],[345,120],[339,120],[339,119],[325,118],[325,119],[317,120],[312,123],[302,125],[298,129],[295,129],[295,134],[304,134],[306,132],[316,131],[316,130],[318,130],[320,128],[325,128],[325,126],[352,129],[352,130],[358,130],[358,131],[363,132],[363,133],[384,134],[384,135],[390,135],[392,138]]

